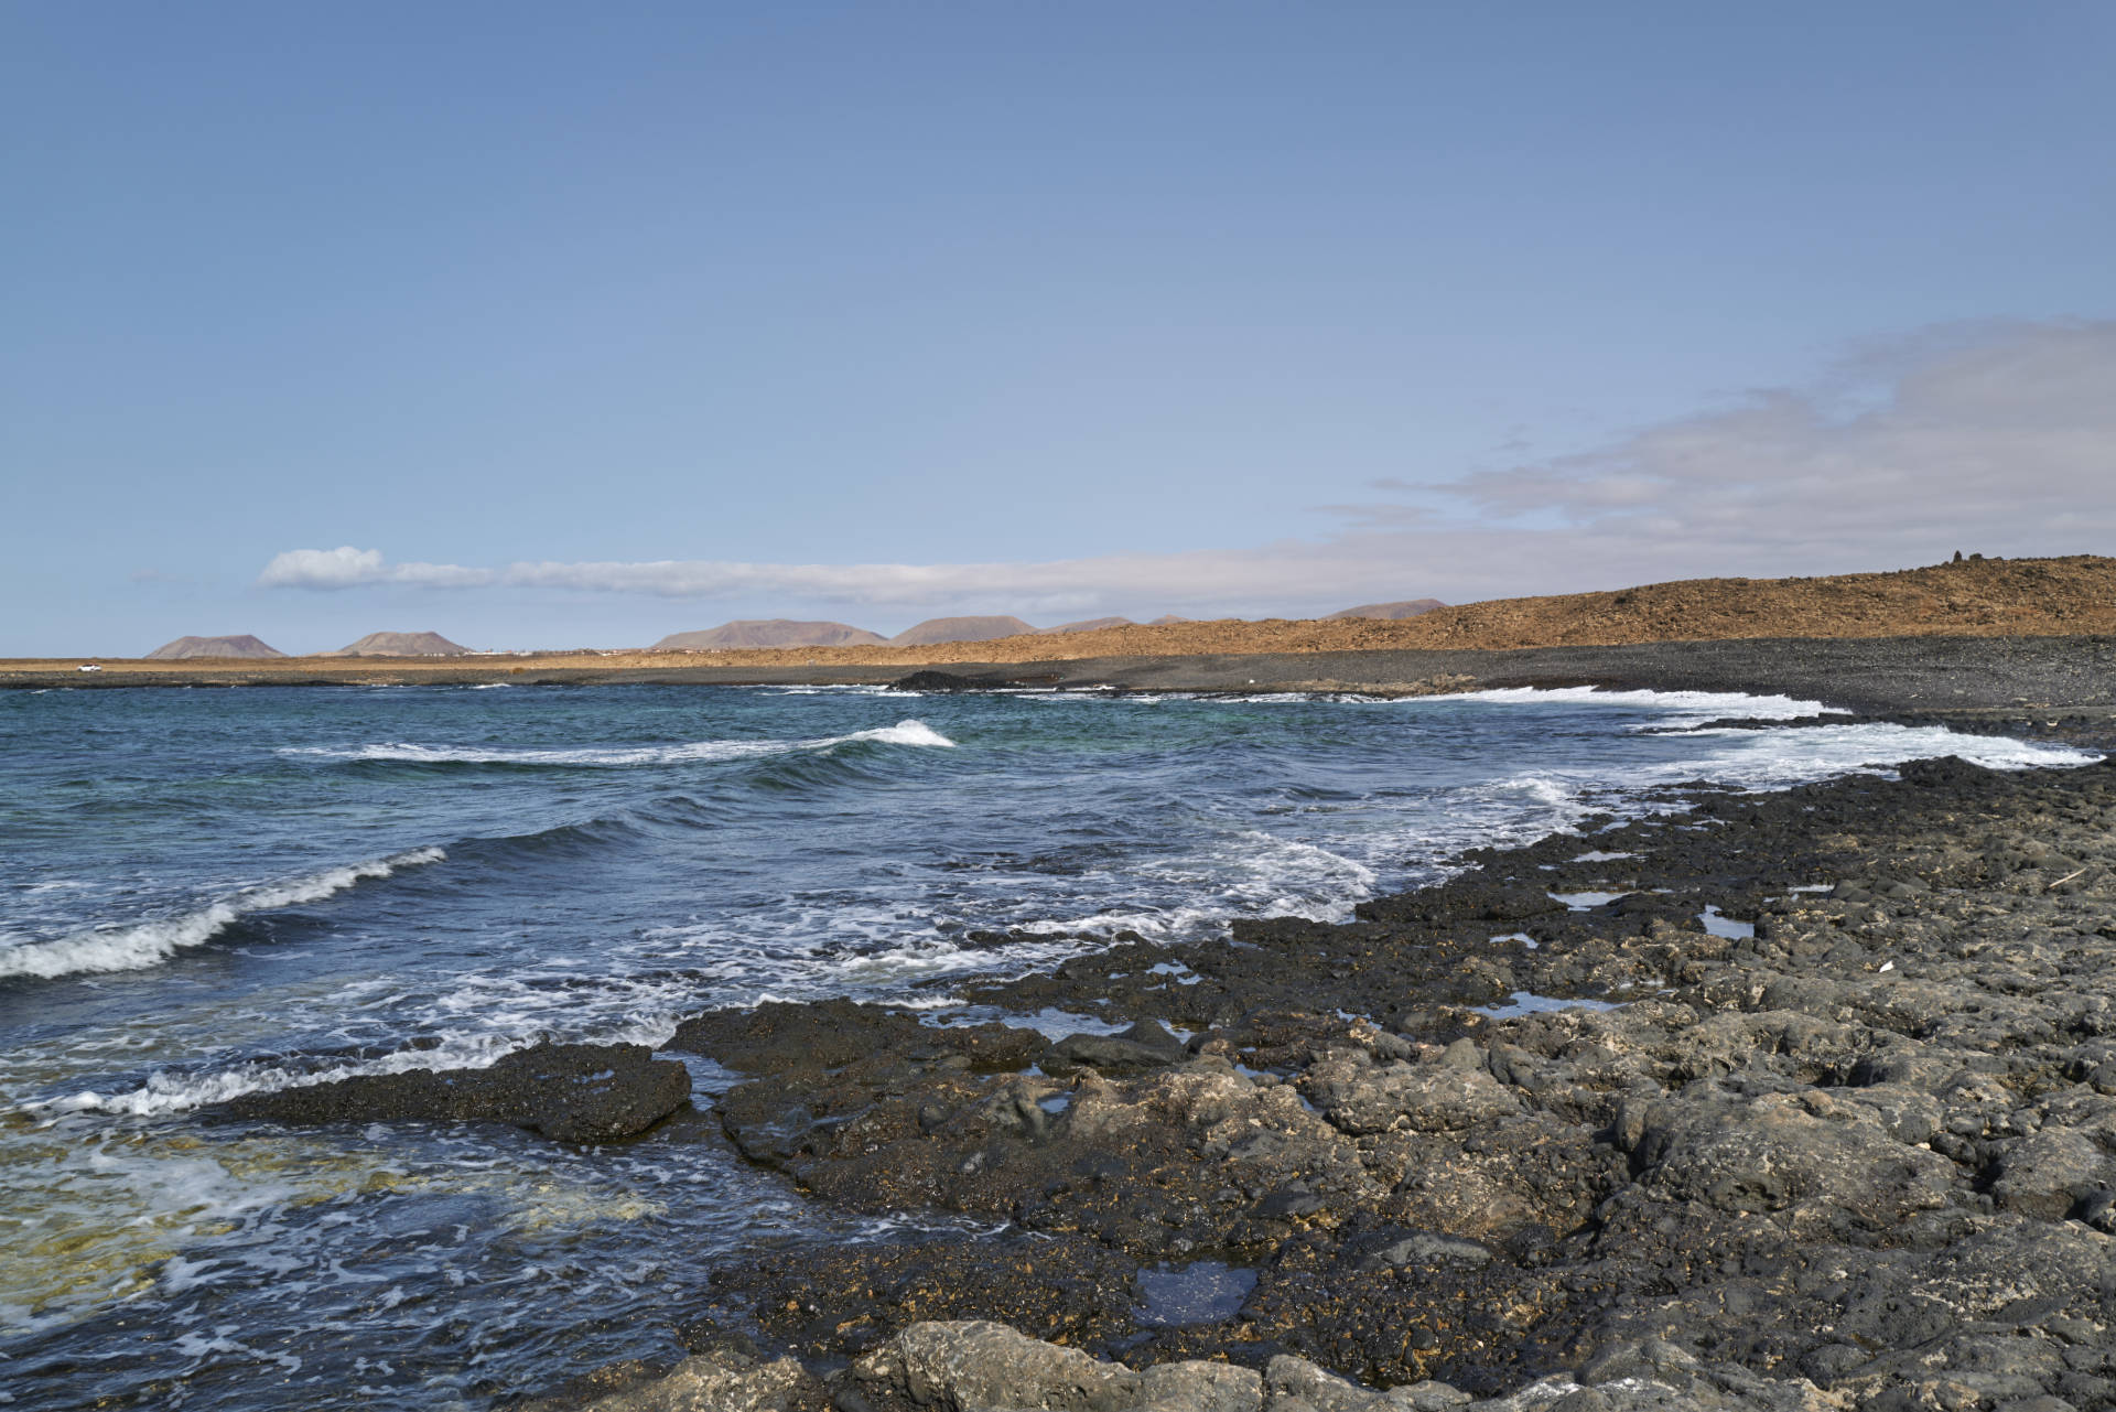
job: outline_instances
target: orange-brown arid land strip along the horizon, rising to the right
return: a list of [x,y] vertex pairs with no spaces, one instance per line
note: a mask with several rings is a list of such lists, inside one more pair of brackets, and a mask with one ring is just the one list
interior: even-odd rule
[[[986,641],[724,652],[540,652],[472,658],[121,660],[83,677],[85,658],[0,660],[0,686],[144,686],[163,682],[468,682],[595,680],[700,669],[711,680],[889,680],[893,669],[1026,663],[1100,665],[1124,658],[1297,656],[1365,652],[1513,652],[1659,641],[2082,637],[2116,633],[2116,559],[1966,559],[1887,574],[1830,578],[1693,578],[1608,593],[1488,599],[1416,618],[1267,618],[1168,622],[1081,633],[1024,633]],[[1060,673],[1066,675],[1066,673]],[[1107,675],[1107,673],[1105,673]],[[1280,684],[1344,677],[1280,673]],[[707,677],[694,677],[707,680]],[[1344,680],[1380,680],[1354,675]]]

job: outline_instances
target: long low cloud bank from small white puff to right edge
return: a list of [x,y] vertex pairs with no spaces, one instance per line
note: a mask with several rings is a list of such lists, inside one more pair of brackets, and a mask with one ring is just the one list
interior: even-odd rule
[[1708,574],[2116,546],[2116,322],[1930,330],[1809,387],[1458,481],[1380,483],[1327,540],[1043,563],[387,563],[288,550],[264,586],[544,589],[1022,614],[1316,612]]

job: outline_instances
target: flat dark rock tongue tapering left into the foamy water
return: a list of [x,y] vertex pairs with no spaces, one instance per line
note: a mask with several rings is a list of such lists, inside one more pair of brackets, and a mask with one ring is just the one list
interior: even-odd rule
[[690,1073],[641,1044],[537,1044],[489,1069],[413,1069],[245,1094],[207,1109],[271,1122],[506,1122],[563,1143],[607,1143],[690,1099]]

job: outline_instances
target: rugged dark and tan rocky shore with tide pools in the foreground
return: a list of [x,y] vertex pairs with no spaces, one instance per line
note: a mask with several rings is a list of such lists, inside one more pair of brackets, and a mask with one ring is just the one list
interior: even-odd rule
[[692,1020],[751,1160],[986,1232],[758,1251],[700,1315],[840,1412],[2116,1408],[2116,768],[1693,790],[1458,862],[948,982],[1096,1016],[1058,1039]]

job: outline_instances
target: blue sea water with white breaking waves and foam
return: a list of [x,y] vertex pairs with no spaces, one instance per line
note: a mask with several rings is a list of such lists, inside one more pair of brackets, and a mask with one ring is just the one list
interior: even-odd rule
[[[2086,758],[1900,726],[1646,730],[1811,711],[1650,692],[0,694],[0,1406],[478,1408],[671,1355],[743,1245],[950,1226],[808,1211],[696,1130],[603,1149],[286,1133],[197,1122],[214,1099],[540,1037],[658,1044],[764,997],[940,1014],[952,974],[1117,931],[1348,917],[1462,847],[1659,807],[1680,781]],[[694,1078],[707,1107],[726,1075]]]

